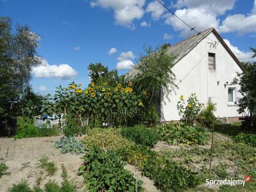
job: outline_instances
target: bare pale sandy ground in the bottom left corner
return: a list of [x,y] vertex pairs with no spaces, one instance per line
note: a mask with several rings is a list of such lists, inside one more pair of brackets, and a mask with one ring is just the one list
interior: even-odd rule
[[[53,147],[54,141],[60,136],[52,136],[45,138],[24,138],[14,140],[13,138],[0,138],[0,159],[4,159],[4,163],[8,166],[10,175],[3,175],[0,179],[0,191],[8,191],[8,188],[26,179],[29,186],[33,187],[36,184],[36,179],[42,178],[40,186],[42,187],[49,179],[55,180],[59,184],[61,178],[61,164],[67,168],[70,180],[74,180],[77,184],[77,190],[83,191],[83,177],[77,175],[77,170],[83,163],[83,155],[61,154],[60,150]],[[57,164],[58,171],[53,176],[47,176],[47,173],[37,167],[38,159],[42,156],[48,156],[49,159]],[[30,162],[27,168],[22,168],[22,163]]]

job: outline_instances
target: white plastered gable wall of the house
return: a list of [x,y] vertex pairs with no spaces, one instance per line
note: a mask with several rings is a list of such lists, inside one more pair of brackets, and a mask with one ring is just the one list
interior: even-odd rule
[[[213,33],[208,37],[218,42],[218,38]],[[241,116],[237,112],[237,106],[228,106],[228,86],[236,87],[237,97],[240,96],[239,86],[225,87],[224,84],[231,83],[236,77],[236,72],[242,72],[242,70],[220,42],[213,47],[209,44],[212,43],[211,40],[204,38],[172,68],[179,88],[169,95],[170,102],[166,97],[164,98],[162,121],[180,120],[177,109],[179,97],[183,95],[184,100],[187,100],[191,93],[196,93],[199,102],[204,104],[209,97],[212,97],[212,102],[216,103],[217,107],[215,115],[218,117]],[[214,70],[208,68],[208,52],[216,54]],[[219,85],[218,81],[220,81]]]

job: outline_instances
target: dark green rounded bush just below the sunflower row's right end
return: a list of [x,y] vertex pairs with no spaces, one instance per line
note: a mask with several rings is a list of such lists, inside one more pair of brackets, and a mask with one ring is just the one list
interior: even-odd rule
[[154,147],[157,143],[157,134],[152,129],[143,125],[136,125],[135,127],[125,127],[121,130],[122,136],[128,140],[134,141],[141,145]]

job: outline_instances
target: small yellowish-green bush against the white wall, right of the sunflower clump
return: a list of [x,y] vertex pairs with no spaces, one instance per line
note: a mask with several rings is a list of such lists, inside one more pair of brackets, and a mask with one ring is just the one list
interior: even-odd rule
[[216,111],[216,105],[208,102],[206,108],[200,112],[199,122],[202,126],[212,127],[212,122],[215,120],[214,111]]

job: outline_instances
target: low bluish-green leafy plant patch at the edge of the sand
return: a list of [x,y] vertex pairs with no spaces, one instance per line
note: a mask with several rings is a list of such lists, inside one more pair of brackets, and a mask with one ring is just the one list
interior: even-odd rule
[[61,154],[84,154],[85,148],[81,141],[74,137],[63,136],[60,140],[55,141],[54,147],[61,149]]

